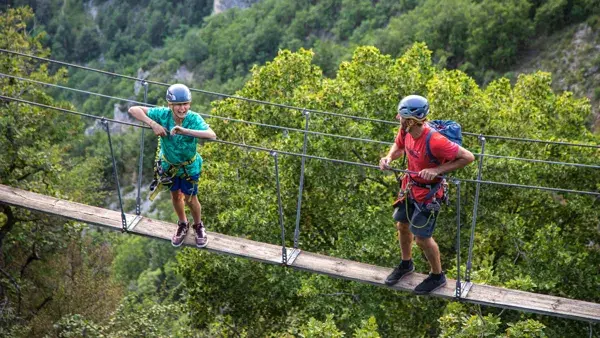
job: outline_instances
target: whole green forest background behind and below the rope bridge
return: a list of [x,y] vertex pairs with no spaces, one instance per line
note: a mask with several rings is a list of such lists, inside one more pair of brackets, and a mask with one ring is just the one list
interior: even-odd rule
[[[130,76],[392,121],[404,95],[432,116],[489,135],[599,144],[600,4],[592,0],[263,0],[211,15],[212,1],[11,1],[0,48]],[[140,83],[0,53],[4,74],[141,101]],[[539,70],[544,70],[542,72]],[[0,77],[3,95],[117,117],[127,103]],[[568,91],[565,91],[568,90]],[[165,88],[148,103],[164,105]],[[201,113],[302,128],[299,111],[194,93]],[[0,183],[117,208],[106,134],[94,121],[0,102]],[[301,133],[207,118],[220,139],[299,152]],[[396,127],[311,115],[311,130],[390,142]],[[115,128],[119,179],[135,207],[140,130]],[[144,148],[144,186],[156,140]],[[479,152],[474,137],[465,146]],[[309,154],[376,164],[387,146],[320,136]],[[273,160],[206,143],[200,183],[209,230],[276,244]],[[593,148],[489,140],[496,155],[597,164]],[[399,165],[399,164],[398,164]],[[486,158],[492,181],[598,191],[597,170]],[[293,233],[300,159],[282,156],[287,233]],[[456,172],[475,178],[476,166]],[[390,173],[309,160],[300,247],[392,267],[399,249]],[[470,220],[475,186],[464,185]],[[143,214],[175,221],[168,198]],[[472,278],[600,302],[597,200],[482,186]],[[456,277],[456,210],[436,239]],[[107,232],[0,205],[0,336],[14,337],[581,337],[586,322],[415,297]],[[461,232],[462,242],[468,231]],[[291,239],[288,238],[288,244]],[[466,250],[462,250],[464,253]],[[420,251],[415,250],[416,253]],[[417,269],[427,263],[415,256]],[[463,257],[463,262],[465,257]],[[464,266],[462,267],[464,271]]]

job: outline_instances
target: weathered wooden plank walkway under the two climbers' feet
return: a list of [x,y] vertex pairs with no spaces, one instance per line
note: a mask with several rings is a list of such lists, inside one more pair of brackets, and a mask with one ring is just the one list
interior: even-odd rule
[[[119,211],[69,202],[5,185],[0,185],[0,203],[62,216],[117,231],[121,230],[121,213]],[[134,219],[135,215],[128,214],[126,217],[129,221]],[[142,217],[132,233],[170,240],[173,229],[174,225],[172,223]],[[281,246],[222,235],[215,232],[208,232],[208,236],[209,242],[205,250],[219,254],[250,258],[263,263],[281,264]],[[185,245],[194,245],[191,236],[186,238]],[[291,250],[288,249],[288,256],[291,253]],[[390,268],[305,251],[302,251],[289,266],[294,269],[383,287],[387,287],[383,281],[391,272]],[[402,279],[392,288],[402,291],[412,291],[425,277],[423,274],[413,273]],[[448,284],[444,288],[435,291],[431,295],[454,299],[455,285],[455,280],[448,279]],[[489,285],[474,284],[462,300],[487,306],[600,322],[600,304]]]

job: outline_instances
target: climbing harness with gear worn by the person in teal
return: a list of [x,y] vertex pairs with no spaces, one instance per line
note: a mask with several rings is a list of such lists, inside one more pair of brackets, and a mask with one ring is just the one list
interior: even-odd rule
[[[150,183],[150,201],[154,201],[154,198],[160,193],[161,188],[170,188],[173,185],[173,178],[179,172],[179,169],[183,169],[182,178],[190,182],[193,186],[198,185],[198,179],[193,179],[185,169],[186,166],[194,163],[198,154],[196,153],[191,159],[181,163],[171,163],[167,160],[164,154],[160,154],[160,138],[158,139],[158,145],[156,147],[156,157],[154,160],[154,179]],[[162,155],[162,156],[161,156]],[[162,161],[165,161],[169,167],[164,170],[162,167]],[[191,198],[191,195],[190,195]]]

